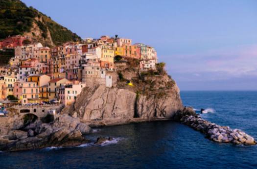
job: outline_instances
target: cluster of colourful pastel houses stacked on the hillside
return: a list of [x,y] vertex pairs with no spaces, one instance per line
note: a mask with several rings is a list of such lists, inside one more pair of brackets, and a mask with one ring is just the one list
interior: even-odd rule
[[8,37],[1,47],[14,48],[9,65],[0,66],[0,100],[13,95],[23,105],[56,102],[70,105],[85,86],[116,85],[115,56],[140,60],[140,69],[155,69],[156,50],[131,39],[88,38],[49,48],[28,37]]

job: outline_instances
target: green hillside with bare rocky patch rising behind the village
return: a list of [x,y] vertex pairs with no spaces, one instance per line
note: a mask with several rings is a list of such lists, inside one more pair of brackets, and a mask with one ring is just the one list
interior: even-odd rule
[[55,46],[81,38],[21,0],[0,0],[0,39],[28,35],[43,45]]

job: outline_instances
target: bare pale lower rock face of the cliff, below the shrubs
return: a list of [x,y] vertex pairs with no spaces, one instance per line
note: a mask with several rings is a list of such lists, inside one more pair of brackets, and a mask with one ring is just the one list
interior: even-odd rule
[[128,88],[103,85],[86,87],[74,105],[63,113],[79,117],[92,126],[117,125],[135,121],[172,119],[183,109],[176,85],[164,97],[140,95]]

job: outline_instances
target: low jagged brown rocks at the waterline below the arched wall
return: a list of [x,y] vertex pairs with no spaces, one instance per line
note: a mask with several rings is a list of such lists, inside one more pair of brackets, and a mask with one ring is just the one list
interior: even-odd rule
[[17,151],[46,147],[78,146],[88,143],[82,134],[89,133],[91,128],[80,123],[79,118],[68,114],[60,115],[51,123],[37,121],[23,130],[10,130],[8,135],[0,137],[0,150]]

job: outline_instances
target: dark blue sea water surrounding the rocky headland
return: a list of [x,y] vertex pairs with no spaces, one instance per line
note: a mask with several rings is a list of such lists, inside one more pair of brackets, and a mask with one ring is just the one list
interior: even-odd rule
[[[257,138],[257,92],[181,92],[185,106],[213,108],[202,117],[240,128]],[[88,136],[116,138],[105,146],[0,153],[0,169],[30,168],[190,168],[256,169],[257,146],[220,144],[176,122],[101,127]]]

